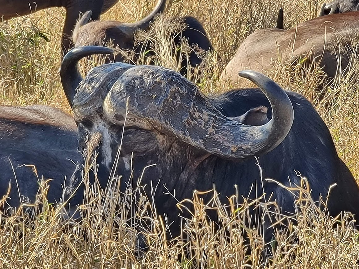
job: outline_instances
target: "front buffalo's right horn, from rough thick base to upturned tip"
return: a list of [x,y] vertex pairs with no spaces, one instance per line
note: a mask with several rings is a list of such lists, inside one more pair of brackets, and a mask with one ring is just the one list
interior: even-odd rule
[[288,134],[294,117],[292,103],[268,77],[254,71],[242,71],[241,76],[260,86],[270,100],[273,116],[264,125],[247,126],[226,117],[191,82],[157,66],[136,66],[123,73],[104,100],[103,115],[123,125],[128,111],[127,126],[168,133],[227,159],[263,154]]

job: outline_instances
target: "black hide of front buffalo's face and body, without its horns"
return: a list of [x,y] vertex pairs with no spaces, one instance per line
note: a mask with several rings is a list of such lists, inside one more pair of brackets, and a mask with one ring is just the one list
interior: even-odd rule
[[[328,204],[330,214],[336,216],[345,210],[358,216],[358,185],[337,156],[328,128],[305,98],[292,92],[287,94],[294,107],[294,123],[288,136],[278,147],[259,156],[263,178],[272,178],[290,186],[289,177],[294,186],[299,185],[300,179],[296,174],[299,171],[308,178],[314,200],[319,200],[320,194],[326,197],[330,185],[337,183],[331,190]],[[214,101],[218,109],[230,117],[244,114],[253,107],[269,107],[265,96],[259,90],[252,89],[231,91],[217,96]],[[271,118],[270,112],[269,117]],[[119,141],[119,137],[116,140]],[[126,129],[123,142],[121,156],[129,157],[131,151],[134,151],[135,179],[140,176],[144,166],[149,163],[157,164],[146,170],[142,183],[150,185],[153,180],[156,185],[158,179],[161,179],[155,204],[160,214],[168,214],[169,221],[174,221],[174,235],[179,232],[176,220],[178,221],[180,211],[175,209],[176,200],[163,194],[167,192],[163,184],[178,200],[191,198],[194,189],[205,191],[214,184],[223,203],[228,203],[226,197],[234,194],[234,184],[238,185],[239,195],[244,197],[250,192],[252,184],[259,188],[261,186],[254,157],[242,161],[224,160],[213,155],[207,157],[205,152],[199,152],[174,137],[138,129]],[[267,198],[274,194],[282,212],[294,212],[293,195],[290,192],[266,181],[264,192]],[[261,188],[258,193],[262,193]],[[252,192],[250,197],[254,196]],[[267,242],[271,236],[271,231],[265,235]]]

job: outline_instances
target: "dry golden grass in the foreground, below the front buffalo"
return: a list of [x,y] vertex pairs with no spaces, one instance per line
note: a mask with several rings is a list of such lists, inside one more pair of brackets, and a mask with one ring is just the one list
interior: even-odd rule
[[[112,178],[112,187],[104,190],[86,185],[85,197],[91,202],[81,206],[80,223],[61,220],[63,209],[46,203],[47,183],[42,182],[36,203],[43,207],[32,206],[34,218],[24,213],[25,206],[12,217],[0,217],[0,264],[3,268],[358,268],[358,231],[350,214],[328,217],[311,199],[305,178],[296,188],[284,187],[297,193],[296,213],[289,217],[262,196],[238,207],[241,198],[236,189],[226,207],[215,190],[207,204],[202,201],[205,193],[195,192],[192,199],[178,204],[183,211],[189,205],[194,209],[175,239],[166,234],[165,216],[156,213],[151,197],[144,196],[141,187],[121,193],[119,180]],[[136,194],[141,198],[135,200]],[[135,212],[133,203],[138,206]],[[281,224],[266,246],[261,236],[263,216],[253,214],[253,207]],[[218,213],[219,230],[209,220],[211,209]],[[254,216],[256,224],[248,225]],[[339,225],[333,228],[336,222]],[[149,242],[146,253],[136,250],[139,231]],[[267,248],[273,247],[273,255],[263,259]]]

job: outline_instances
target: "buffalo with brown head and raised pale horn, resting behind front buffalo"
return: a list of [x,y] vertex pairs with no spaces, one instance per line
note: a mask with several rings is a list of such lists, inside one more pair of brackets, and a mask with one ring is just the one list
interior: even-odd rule
[[[151,45],[144,42],[134,44],[135,33],[137,30],[148,30],[150,23],[154,20],[155,16],[162,13],[165,8],[166,1],[159,0],[154,10],[146,18],[136,23],[122,23],[116,21],[94,21],[89,22],[91,12],[85,13],[79,22],[76,24],[73,33],[73,42],[75,47],[101,45],[110,39],[113,44],[123,50],[135,51],[138,56],[141,52],[146,52],[147,56],[151,56]],[[180,59],[180,52],[173,52],[177,61],[181,61],[181,74],[187,73],[187,61],[189,65],[195,67],[202,62],[202,59],[197,54],[200,51],[212,51],[214,48],[208,39],[205,29],[201,23],[194,17],[186,16],[181,18],[181,23],[185,25],[185,29],[180,32],[174,32],[174,45],[181,45],[183,38],[188,40],[188,44],[194,48],[189,53],[189,59],[185,55]],[[107,62],[122,62],[124,60],[121,54],[110,56]],[[136,59],[132,60],[137,63]]]

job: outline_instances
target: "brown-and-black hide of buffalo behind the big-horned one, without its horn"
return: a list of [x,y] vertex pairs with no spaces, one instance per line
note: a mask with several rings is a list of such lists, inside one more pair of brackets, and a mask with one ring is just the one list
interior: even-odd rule
[[[181,74],[186,75],[187,61],[191,67],[196,67],[202,63],[202,58],[196,52],[209,52],[213,51],[214,48],[202,24],[196,18],[186,16],[181,18],[181,23],[186,25],[186,27],[181,32],[173,33],[174,47],[180,46],[182,39],[187,39],[188,45],[194,49],[190,52],[188,59],[185,55],[181,56],[180,52],[173,52],[173,54],[174,57],[176,57],[177,62],[180,62]],[[152,56],[153,52],[150,49],[151,44],[139,42],[135,45],[134,34],[135,33],[127,27],[125,23],[115,21],[95,21],[89,22],[79,28],[76,38],[74,38],[74,43],[75,47],[101,45],[111,39],[114,46],[121,48],[122,50],[134,51],[136,56],[144,51],[148,52],[146,56]],[[139,61],[136,56],[132,59],[134,64],[138,64]],[[121,53],[118,53],[117,55],[109,55],[107,57],[107,63],[122,62],[123,60],[124,58]]]

